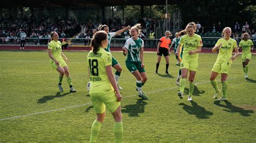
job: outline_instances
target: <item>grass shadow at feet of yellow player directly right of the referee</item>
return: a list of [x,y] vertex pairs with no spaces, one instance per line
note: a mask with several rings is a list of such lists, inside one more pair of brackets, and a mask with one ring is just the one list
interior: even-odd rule
[[180,103],[183,109],[190,115],[196,115],[199,119],[208,119],[209,116],[213,115],[213,112],[206,111],[205,108],[199,106],[196,102],[190,101],[191,105]]

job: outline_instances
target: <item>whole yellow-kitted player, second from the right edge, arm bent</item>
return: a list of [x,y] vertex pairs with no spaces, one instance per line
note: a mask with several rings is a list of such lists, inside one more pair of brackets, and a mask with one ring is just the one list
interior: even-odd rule
[[[238,48],[237,41],[231,39],[231,28],[225,27],[222,32],[223,38],[219,39],[215,46],[212,48],[212,52],[216,52],[219,49],[217,60],[215,61],[212,72],[211,72],[211,84],[215,89],[215,93],[213,98],[217,98],[220,90],[218,88],[217,81],[215,78],[218,74],[221,74],[221,83],[223,89],[223,96],[217,99],[217,101],[225,101],[227,100],[227,75],[228,70],[230,69],[232,62],[238,56]],[[232,56],[233,49],[235,51],[235,55]]]

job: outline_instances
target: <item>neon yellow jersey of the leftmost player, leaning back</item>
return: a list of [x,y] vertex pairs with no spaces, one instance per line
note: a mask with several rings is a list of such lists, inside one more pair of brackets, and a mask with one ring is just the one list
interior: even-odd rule
[[52,50],[52,56],[56,59],[62,59],[62,44],[60,41],[51,40],[48,44],[48,49]]

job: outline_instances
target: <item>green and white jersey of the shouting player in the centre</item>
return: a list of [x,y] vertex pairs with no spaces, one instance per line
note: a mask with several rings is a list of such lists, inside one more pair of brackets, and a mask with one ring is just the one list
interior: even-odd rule
[[138,38],[138,40],[134,40],[129,38],[125,42],[124,47],[128,50],[126,61],[141,62],[139,52],[144,47],[144,41],[142,39]]

